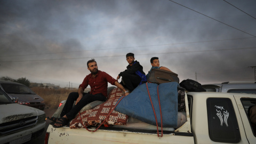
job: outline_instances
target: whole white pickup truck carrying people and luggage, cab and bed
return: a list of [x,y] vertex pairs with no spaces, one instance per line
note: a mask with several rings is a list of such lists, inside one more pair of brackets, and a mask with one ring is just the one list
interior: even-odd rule
[[161,138],[156,126],[129,122],[129,118],[126,125],[100,127],[95,132],[90,131],[97,127],[87,131],[49,125],[45,143],[256,143],[247,112],[255,104],[255,94],[187,92],[185,118],[178,117],[178,123],[185,122],[164,127]]

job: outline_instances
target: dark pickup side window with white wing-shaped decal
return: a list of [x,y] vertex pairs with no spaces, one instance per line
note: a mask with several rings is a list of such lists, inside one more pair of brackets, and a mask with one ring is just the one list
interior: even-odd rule
[[209,98],[206,103],[210,139],[215,142],[239,142],[241,135],[231,100]]

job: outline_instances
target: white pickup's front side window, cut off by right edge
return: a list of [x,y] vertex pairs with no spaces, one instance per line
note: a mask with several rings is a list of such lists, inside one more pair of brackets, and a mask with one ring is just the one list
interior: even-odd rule
[[242,98],[241,102],[251,125],[253,135],[256,137],[256,99]]

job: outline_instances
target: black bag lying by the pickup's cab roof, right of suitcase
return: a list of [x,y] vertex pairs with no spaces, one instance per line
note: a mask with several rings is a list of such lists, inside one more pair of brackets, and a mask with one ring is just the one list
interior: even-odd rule
[[189,92],[206,92],[202,85],[192,79],[183,80],[180,86],[185,88]]

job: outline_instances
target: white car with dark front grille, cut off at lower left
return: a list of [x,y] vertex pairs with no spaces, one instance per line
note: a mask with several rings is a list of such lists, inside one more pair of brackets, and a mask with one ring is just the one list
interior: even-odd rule
[[45,124],[44,111],[15,103],[0,89],[0,143],[27,142],[41,135]]

